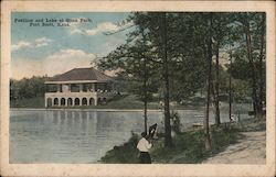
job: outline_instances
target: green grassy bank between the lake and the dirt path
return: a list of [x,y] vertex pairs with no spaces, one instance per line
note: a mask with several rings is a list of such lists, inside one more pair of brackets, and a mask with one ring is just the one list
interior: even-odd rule
[[[246,120],[238,124],[221,128],[211,128],[212,151],[204,150],[204,132],[203,129],[190,129],[185,132],[177,134],[172,148],[163,147],[163,137],[153,143],[150,151],[152,163],[157,164],[197,164],[201,163],[209,156],[222,152],[230,144],[236,143],[243,131],[264,131],[265,120]],[[105,164],[137,164],[138,150],[136,145],[139,135],[134,134],[132,137],[120,146],[115,146],[102,157],[100,163]]]

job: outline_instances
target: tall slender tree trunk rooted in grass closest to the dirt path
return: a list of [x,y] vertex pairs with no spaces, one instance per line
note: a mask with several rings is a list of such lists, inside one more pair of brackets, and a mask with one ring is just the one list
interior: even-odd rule
[[211,150],[211,139],[209,131],[209,109],[210,109],[210,91],[211,91],[211,81],[212,81],[212,13],[209,13],[210,18],[209,23],[209,36],[208,36],[208,79],[206,79],[206,112],[204,120],[204,130],[205,130],[205,150]]

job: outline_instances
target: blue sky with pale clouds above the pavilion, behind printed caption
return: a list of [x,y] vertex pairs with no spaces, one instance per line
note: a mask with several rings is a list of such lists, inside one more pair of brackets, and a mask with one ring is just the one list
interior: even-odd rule
[[10,77],[51,77],[93,66],[98,57],[126,42],[126,34],[132,27],[113,35],[106,33],[131,25],[131,22],[118,25],[128,15],[127,12],[13,12]]

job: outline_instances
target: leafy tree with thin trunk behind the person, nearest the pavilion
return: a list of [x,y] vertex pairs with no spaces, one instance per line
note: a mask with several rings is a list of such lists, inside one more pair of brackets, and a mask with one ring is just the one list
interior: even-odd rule
[[117,75],[127,77],[129,81],[128,90],[136,93],[144,101],[145,132],[147,133],[147,107],[151,95],[156,91],[155,84],[149,79],[153,75],[153,65],[150,62],[151,46],[148,43],[148,36],[142,29],[138,26],[136,32],[129,34],[128,43],[121,45],[108,56],[104,57],[99,67],[105,69],[119,69]]

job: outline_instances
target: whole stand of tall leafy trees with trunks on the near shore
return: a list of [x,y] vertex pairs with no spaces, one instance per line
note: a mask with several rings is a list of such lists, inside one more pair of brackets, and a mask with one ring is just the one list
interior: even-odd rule
[[[145,101],[145,112],[147,98],[159,93],[164,103],[166,145],[172,144],[172,100],[183,102],[206,90],[206,148],[211,148],[209,106],[214,102],[215,123],[219,125],[222,88],[230,88],[227,92],[231,97],[236,91],[234,97],[238,101],[251,95],[254,111],[256,114],[262,112],[265,99],[264,13],[134,12],[129,21],[136,27],[129,33],[127,43],[105,57],[99,66],[119,68],[125,73],[131,86],[128,90]],[[231,60],[229,67],[225,59]],[[223,68],[227,69],[229,78],[236,79],[234,85],[227,86]],[[158,87],[158,90],[155,89]]]

